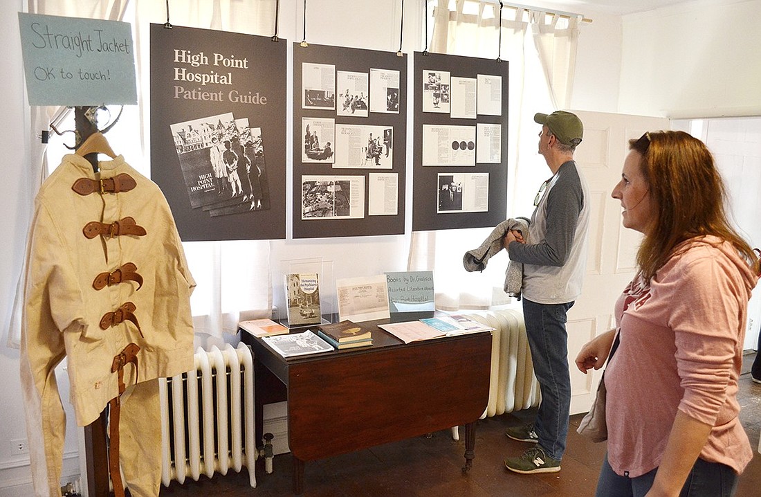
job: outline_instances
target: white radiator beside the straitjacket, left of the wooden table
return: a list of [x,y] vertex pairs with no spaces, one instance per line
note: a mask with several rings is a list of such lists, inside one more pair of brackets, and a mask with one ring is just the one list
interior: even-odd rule
[[[253,357],[240,343],[224,350],[196,350],[196,369],[159,381],[161,396],[161,481],[227,474],[254,463]],[[221,373],[221,374],[220,374]]]

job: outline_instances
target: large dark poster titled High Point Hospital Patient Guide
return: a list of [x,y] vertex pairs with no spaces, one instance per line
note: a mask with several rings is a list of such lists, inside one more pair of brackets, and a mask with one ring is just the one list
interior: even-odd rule
[[183,241],[285,238],[286,48],[151,24],[151,179]]

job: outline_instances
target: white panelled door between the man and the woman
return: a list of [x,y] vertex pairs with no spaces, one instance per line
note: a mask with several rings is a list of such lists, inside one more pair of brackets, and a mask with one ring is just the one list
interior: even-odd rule
[[602,371],[582,374],[575,366],[581,346],[613,327],[613,304],[634,276],[641,235],[621,225],[621,205],[610,196],[621,178],[629,139],[645,131],[668,129],[668,119],[572,111],[584,123],[584,142],[574,158],[584,171],[591,196],[587,276],[581,297],[568,312],[568,366],[571,413],[584,413],[594,400]]

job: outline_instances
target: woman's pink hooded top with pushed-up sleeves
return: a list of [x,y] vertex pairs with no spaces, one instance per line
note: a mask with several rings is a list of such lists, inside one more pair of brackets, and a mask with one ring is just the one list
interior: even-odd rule
[[634,478],[661,464],[677,409],[714,426],[702,459],[737,473],[751,460],[737,378],[757,280],[731,244],[701,237],[649,285],[639,276],[629,283],[616,302],[619,349],[605,371],[608,460],[617,474]]

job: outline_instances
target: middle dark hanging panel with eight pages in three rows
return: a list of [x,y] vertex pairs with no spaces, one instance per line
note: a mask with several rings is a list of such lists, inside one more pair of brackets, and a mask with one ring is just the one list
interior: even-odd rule
[[294,43],[294,238],[404,232],[406,62]]

